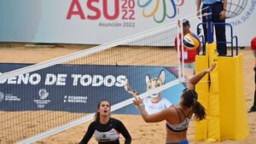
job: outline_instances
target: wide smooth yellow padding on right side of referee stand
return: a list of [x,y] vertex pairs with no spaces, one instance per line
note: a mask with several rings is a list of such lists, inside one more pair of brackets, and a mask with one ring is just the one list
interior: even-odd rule
[[249,135],[242,57],[218,57],[222,140],[241,140]]

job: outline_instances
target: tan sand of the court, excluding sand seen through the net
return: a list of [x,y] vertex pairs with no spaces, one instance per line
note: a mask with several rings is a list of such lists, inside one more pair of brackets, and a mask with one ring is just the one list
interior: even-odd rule
[[[91,46],[83,46],[83,45],[59,45],[55,48],[46,47],[25,47],[24,44],[2,44],[0,45],[0,62],[7,63],[38,63],[45,60],[51,60],[57,58],[62,55],[72,54],[82,49],[90,48]],[[143,49],[142,49],[143,50]],[[152,50],[154,49],[147,49]],[[168,50],[168,49],[162,49]],[[169,49],[170,50],[170,49]],[[247,97],[247,109],[253,104],[253,93],[254,93],[254,58],[251,49],[241,49],[239,51],[243,53],[243,64],[244,64],[244,82],[245,82],[245,93]],[[146,61],[148,62],[148,61]],[[150,61],[149,61],[150,62]],[[7,114],[6,112],[0,112],[0,115]],[[248,114],[248,123],[249,123],[249,136],[242,141],[222,141],[222,142],[214,142],[221,144],[253,144],[256,141],[256,112],[252,112]],[[137,115],[112,115],[113,118],[119,118],[129,130],[132,143],[135,144],[157,144],[157,143],[165,143],[166,141],[166,126],[165,122],[147,124],[143,121],[141,116]],[[2,122],[7,123],[7,122]],[[80,124],[72,129],[65,130],[59,134],[51,135],[42,141],[38,141],[36,143],[44,144],[44,143],[78,143],[82,137],[84,136],[85,131],[87,130],[90,122],[86,122],[84,124]],[[33,124],[30,124],[33,126]],[[18,128],[17,128],[18,129]],[[2,134],[0,134],[2,135]],[[189,124],[188,131],[188,139],[191,144],[201,144],[207,143],[210,144],[212,142],[205,141],[195,141],[195,124],[192,121]],[[123,137],[121,136],[121,143],[124,142]],[[1,140],[0,143],[12,143],[11,140]],[[96,140],[94,137],[90,140],[91,144],[96,144]]]

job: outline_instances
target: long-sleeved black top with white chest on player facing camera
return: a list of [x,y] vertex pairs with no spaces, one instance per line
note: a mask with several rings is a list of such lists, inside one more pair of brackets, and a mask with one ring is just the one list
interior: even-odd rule
[[99,121],[92,122],[82,141],[79,144],[85,144],[95,134],[96,141],[99,144],[119,144],[119,134],[125,137],[125,144],[131,144],[131,135],[126,130],[125,125],[115,118],[110,118],[107,124],[101,124]]

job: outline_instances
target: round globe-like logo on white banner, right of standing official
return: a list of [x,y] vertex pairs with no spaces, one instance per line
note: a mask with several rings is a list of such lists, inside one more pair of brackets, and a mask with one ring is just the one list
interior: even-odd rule
[[227,3],[227,14],[228,19],[235,18],[237,15],[246,8],[247,0],[232,0]]

